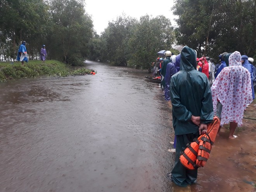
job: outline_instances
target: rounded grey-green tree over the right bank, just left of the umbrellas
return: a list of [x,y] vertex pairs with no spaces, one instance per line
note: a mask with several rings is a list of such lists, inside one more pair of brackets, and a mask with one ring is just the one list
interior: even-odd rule
[[170,19],[164,16],[140,17],[130,38],[130,66],[149,69],[152,61],[156,60],[157,52],[170,50],[174,42],[174,33]]

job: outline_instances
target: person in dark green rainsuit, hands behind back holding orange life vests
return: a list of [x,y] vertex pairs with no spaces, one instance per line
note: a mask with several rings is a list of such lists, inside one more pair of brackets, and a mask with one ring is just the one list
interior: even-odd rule
[[180,152],[187,143],[206,133],[214,114],[208,78],[196,70],[196,52],[187,46],[180,54],[180,71],[171,77],[170,96],[177,144],[175,164],[168,178],[186,187],[195,183],[197,170],[188,170],[180,163]]

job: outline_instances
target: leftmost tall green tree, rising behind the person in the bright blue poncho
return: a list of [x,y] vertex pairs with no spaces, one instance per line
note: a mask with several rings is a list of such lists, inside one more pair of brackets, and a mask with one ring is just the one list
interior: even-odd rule
[[[46,6],[43,0],[0,0],[0,44],[5,55],[16,59],[17,47],[22,40],[29,42],[41,33]],[[31,44],[30,44],[31,43]]]

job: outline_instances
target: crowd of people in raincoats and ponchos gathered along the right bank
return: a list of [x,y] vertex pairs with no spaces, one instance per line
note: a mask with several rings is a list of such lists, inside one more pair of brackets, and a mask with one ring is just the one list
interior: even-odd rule
[[168,178],[180,187],[197,179],[197,170],[188,170],[180,163],[182,149],[205,133],[214,116],[220,119],[218,131],[230,123],[228,138],[237,138],[234,131],[242,125],[244,111],[254,99],[252,58],[238,51],[225,52],[219,56],[220,63],[214,64],[210,57],[198,58],[196,54],[187,46],[178,55],[166,51],[165,59],[157,58],[154,71],[154,76],[161,76],[165,100],[172,104],[176,153]]

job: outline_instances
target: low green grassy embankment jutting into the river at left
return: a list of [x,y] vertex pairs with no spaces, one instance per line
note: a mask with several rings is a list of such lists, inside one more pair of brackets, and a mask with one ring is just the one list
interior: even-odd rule
[[83,75],[90,74],[91,71],[91,69],[85,68],[74,70],[68,65],[55,60],[48,60],[45,63],[34,60],[28,63],[24,62],[24,66],[21,65],[21,62],[0,62],[0,82],[12,78],[29,78],[44,75],[57,77]]

